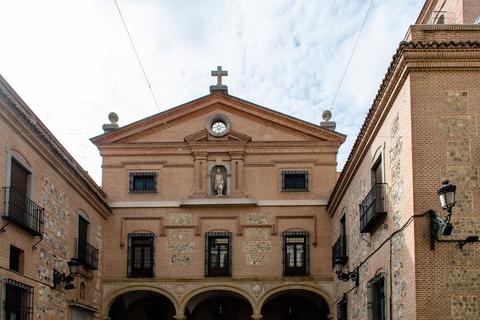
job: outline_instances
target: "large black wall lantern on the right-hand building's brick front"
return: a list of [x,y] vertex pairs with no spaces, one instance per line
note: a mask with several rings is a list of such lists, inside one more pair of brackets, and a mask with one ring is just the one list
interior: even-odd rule
[[437,194],[440,199],[442,209],[447,211],[447,215],[443,217],[437,216],[435,211],[430,210],[430,249],[435,249],[435,240],[438,235],[449,236],[452,234],[453,226],[450,223],[452,218],[452,210],[455,207],[455,192],[457,186],[450,184],[448,180],[442,182],[442,186],[438,188]]

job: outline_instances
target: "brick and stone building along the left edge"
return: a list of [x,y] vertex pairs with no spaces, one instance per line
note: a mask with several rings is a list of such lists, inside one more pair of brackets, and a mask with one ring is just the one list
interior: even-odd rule
[[[99,314],[105,193],[2,77],[0,149],[0,319]],[[61,276],[69,261],[71,282]]]

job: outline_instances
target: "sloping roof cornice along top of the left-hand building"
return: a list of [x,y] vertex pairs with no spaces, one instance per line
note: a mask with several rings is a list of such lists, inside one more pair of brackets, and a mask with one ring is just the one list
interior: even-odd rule
[[[58,142],[53,134],[43,125],[36,115],[25,105],[18,97],[15,91],[0,76],[0,101],[6,106],[4,111],[10,121],[23,128],[23,134],[28,135],[31,139],[33,147],[43,148],[48,154],[45,159],[48,161],[56,160],[54,168],[63,167],[62,174],[66,175],[67,181],[72,178],[77,183],[76,188],[83,189],[82,194],[89,199],[95,207],[100,208],[100,212],[104,217],[110,215],[111,210],[105,201],[105,193],[97,186],[97,184],[88,176],[75,159],[65,150]],[[77,190],[81,190],[77,189]]]

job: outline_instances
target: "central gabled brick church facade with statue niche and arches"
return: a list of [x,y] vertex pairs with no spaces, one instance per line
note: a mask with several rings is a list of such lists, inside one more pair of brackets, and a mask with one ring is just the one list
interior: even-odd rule
[[326,204],[343,140],[216,86],[93,138],[112,208],[105,314],[138,318],[129,301],[153,290],[170,305],[169,318],[326,319]]

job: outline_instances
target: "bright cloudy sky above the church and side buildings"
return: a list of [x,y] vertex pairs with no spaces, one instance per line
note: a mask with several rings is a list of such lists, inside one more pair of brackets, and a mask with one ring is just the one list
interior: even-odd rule
[[[0,74],[92,177],[89,138],[208,94],[210,70],[232,95],[319,123],[332,105],[370,0],[0,0]],[[340,170],[391,57],[423,0],[374,0],[333,109],[347,134]]]

